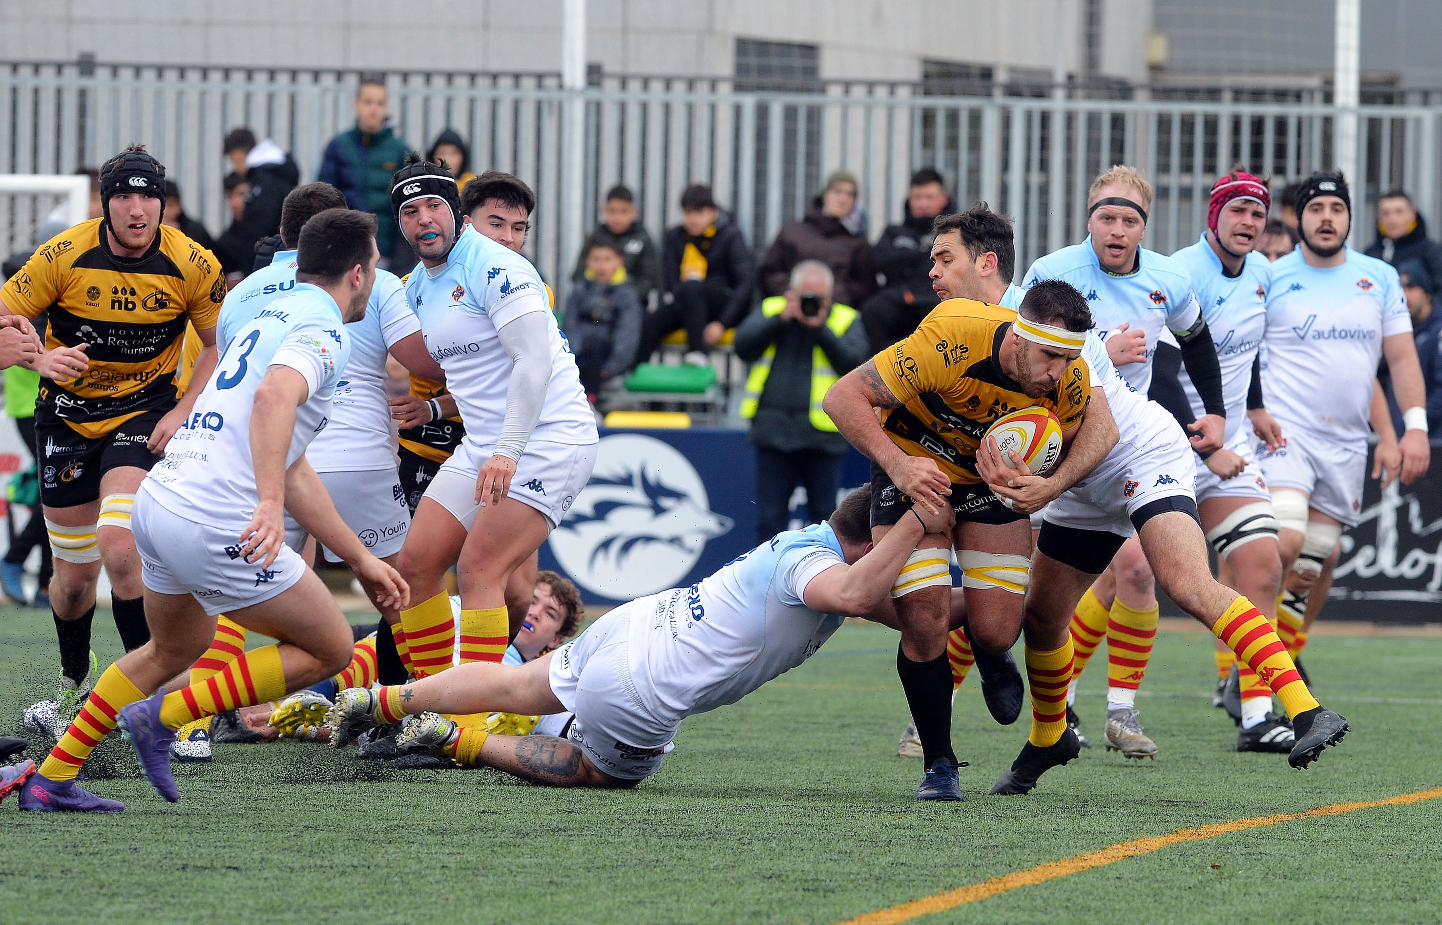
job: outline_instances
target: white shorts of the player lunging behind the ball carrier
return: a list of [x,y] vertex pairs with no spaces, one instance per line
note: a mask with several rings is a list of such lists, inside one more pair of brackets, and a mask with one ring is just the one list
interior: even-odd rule
[[1113,460],[1103,459],[1086,478],[1061,492],[1043,512],[1048,524],[1131,537],[1132,512],[1169,496],[1194,502],[1197,455],[1174,420],[1141,446]]

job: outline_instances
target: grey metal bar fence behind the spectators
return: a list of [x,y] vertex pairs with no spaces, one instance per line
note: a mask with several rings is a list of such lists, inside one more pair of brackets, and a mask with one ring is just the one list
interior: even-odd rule
[[[144,141],[180,185],[186,211],[212,232],[228,224],[225,133],[249,126],[291,152],[313,179],[322,150],[353,123],[359,75],[115,65],[0,69],[0,173],[66,173]],[[425,149],[443,128],[472,146],[473,169],[509,170],[539,206],[528,251],[565,286],[574,250],[616,182],[636,190],[659,237],[679,219],[692,182],[712,185],[747,238],[763,248],[802,215],[826,172],[845,167],[875,238],[901,216],[907,176],[936,166],[962,205],[986,201],[1017,219],[1018,271],[1080,240],[1090,179],[1112,163],[1156,188],[1148,244],[1190,244],[1207,189],[1240,163],[1278,186],[1334,162],[1338,111],[1315,104],[927,95],[907,84],[825,84],[818,92],[747,92],[717,81],[601,81],[564,91],[548,75],[389,75],[395,131]],[[1056,97],[1061,97],[1057,91]],[[568,105],[584,137],[567,137]],[[1358,115],[1358,205],[1351,242],[1370,242],[1379,192],[1400,186],[1442,215],[1433,105],[1370,105]],[[565,146],[581,144],[580,190],[564,189]],[[572,195],[578,192],[580,195]],[[564,211],[562,211],[564,209]],[[0,206],[0,247],[25,245],[35,209]]]

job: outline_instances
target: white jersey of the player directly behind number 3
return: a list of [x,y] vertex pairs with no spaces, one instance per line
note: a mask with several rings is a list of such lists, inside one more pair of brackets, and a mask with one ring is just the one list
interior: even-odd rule
[[[271,264],[249,274],[225,296],[216,349],[224,351],[239,325],[296,287],[296,251],[277,251]],[[375,271],[365,317],[346,325],[350,362],[336,384],[330,424],[306,450],[316,472],[369,472],[395,468],[391,446],[391,407],[386,404],[385,358],[391,348],[421,329],[405,302],[401,279]]]

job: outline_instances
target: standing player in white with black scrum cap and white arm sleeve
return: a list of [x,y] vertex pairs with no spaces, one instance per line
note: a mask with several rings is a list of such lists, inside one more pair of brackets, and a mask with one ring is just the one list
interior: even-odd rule
[[401,234],[420,255],[405,294],[466,421],[466,437],[415,509],[401,613],[417,677],[457,638],[444,574],[460,584],[461,662],[495,661],[510,635],[506,583],[590,479],[596,417],[531,263],[463,224],[450,172],[418,157],[392,179]]

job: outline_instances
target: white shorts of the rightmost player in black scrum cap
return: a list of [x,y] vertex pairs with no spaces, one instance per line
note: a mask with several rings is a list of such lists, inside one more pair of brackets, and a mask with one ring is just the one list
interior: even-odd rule
[[1348,446],[1282,421],[1286,444],[1275,453],[1257,447],[1262,475],[1272,488],[1305,492],[1308,507],[1355,527],[1361,521],[1361,489],[1367,482],[1367,446]]

